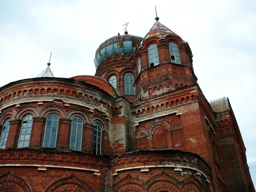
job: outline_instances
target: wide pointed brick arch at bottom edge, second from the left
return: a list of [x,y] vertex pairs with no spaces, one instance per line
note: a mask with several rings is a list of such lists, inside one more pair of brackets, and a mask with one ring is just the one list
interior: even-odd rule
[[69,177],[59,179],[52,183],[45,192],[92,192],[92,189],[89,187],[86,182],[75,177],[71,174]]

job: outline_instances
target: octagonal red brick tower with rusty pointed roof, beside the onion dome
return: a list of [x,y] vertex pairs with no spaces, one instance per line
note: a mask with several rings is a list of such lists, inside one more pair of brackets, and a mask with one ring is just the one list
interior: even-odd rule
[[189,44],[155,19],[134,52],[137,101],[197,83]]

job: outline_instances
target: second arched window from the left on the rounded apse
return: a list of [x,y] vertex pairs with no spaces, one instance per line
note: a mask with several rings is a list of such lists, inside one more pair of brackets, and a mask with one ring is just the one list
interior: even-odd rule
[[29,147],[31,129],[33,124],[32,117],[33,117],[32,114],[27,114],[26,116],[23,117],[17,148]]

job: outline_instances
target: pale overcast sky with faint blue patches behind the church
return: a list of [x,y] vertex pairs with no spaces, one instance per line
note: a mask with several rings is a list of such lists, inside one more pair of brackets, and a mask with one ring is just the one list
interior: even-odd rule
[[160,22],[188,42],[208,101],[228,97],[256,183],[256,1],[0,1],[0,86],[36,77],[51,58],[55,77],[94,75],[106,39],[144,37]]

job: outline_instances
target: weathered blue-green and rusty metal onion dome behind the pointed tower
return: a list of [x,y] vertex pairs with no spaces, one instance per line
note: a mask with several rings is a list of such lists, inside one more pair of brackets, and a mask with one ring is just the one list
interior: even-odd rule
[[107,39],[101,43],[95,53],[94,63],[96,69],[102,60],[107,59],[109,56],[114,56],[117,53],[130,53],[133,54],[134,50],[139,47],[142,37],[136,35],[118,35]]

